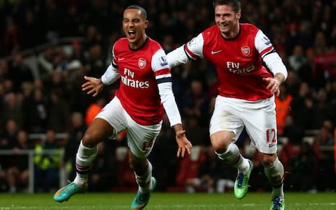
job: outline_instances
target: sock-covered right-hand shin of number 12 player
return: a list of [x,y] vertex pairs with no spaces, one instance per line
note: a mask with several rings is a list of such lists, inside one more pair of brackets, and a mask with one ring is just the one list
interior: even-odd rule
[[278,158],[272,165],[265,166],[265,175],[272,186],[272,197],[283,197],[283,165]]

